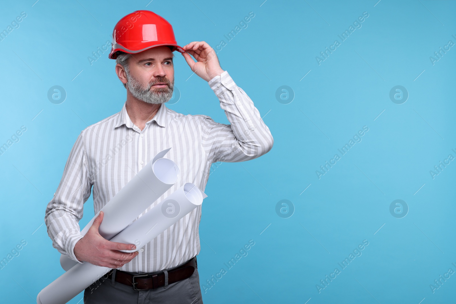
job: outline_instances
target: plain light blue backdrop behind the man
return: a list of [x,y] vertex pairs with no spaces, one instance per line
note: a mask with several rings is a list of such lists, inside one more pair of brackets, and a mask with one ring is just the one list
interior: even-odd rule
[[[214,48],[255,14],[218,57],[265,115],[274,147],[212,166],[198,255],[205,304],[456,303],[456,275],[430,289],[456,271],[456,161],[435,179],[429,172],[456,156],[456,46],[435,65],[429,59],[456,42],[455,1],[35,1],[5,1],[0,10],[0,30],[27,14],[0,41],[0,144],[27,128],[0,156],[0,258],[27,242],[0,269],[2,301],[33,303],[63,273],[43,224],[46,205],[78,134],[126,98],[108,53],[92,65],[88,56],[121,17],[148,9],[170,21],[181,46]],[[365,11],[362,27],[318,65],[315,57]],[[181,98],[167,106],[228,123],[207,82],[189,78],[175,54]],[[58,105],[47,99],[54,85],[67,92]],[[292,88],[291,103],[275,98],[282,85]],[[389,98],[396,85],[409,92],[403,104]],[[315,171],[363,126],[362,141],[318,179]],[[289,218],[276,214],[282,199],[295,207]],[[396,199],[409,206],[403,218],[389,212]],[[92,197],[84,211],[81,226],[93,216]],[[205,293],[206,280],[249,240],[248,255]],[[318,293],[316,284],[363,240],[362,255]]]

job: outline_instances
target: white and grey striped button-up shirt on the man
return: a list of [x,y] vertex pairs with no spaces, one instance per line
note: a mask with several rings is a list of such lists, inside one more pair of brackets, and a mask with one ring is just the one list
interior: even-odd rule
[[[212,163],[252,160],[272,148],[274,140],[269,128],[228,72],[212,78],[208,84],[231,124],[216,123],[206,115],[177,113],[163,103],[140,130],[132,123],[124,103],[119,113],[88,126],[79,134],[62,180],[46,208],[47,233],[54,248],[78,261],[73,252],[76,242],[83,237],[78,222],[92,186],[93,209],[97,214],[163,149],[171,147],[165,157],[179,166],[181,174],[176,184],[142,214],[187,182],[204,191]],[[196,256],[200,251],[201,207],[138,248],[139,255],[118,269],[155,272],[176,267]]]

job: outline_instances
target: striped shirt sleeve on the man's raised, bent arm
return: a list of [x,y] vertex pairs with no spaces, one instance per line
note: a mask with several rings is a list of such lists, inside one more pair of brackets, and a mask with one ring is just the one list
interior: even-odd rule
[[208,82],[231,124],[216,123],[203,116],[202,146],[208,160],[238,162],[252,160],[272,149],[274,139],[253,101],[227,71]]

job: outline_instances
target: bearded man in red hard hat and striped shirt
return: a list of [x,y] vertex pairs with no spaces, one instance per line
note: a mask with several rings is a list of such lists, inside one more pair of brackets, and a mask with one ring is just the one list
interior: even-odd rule
[[[179,166],[181,175],[150,208],[186,182],[204,191],[212,163],[264,155],[272,148],[272,135],[252,100],[223,71],[206,42],[178,46],[171,25],[147,10],[122,18],[113,39],[109,57],[116,59],[115,72],[127,89],[127,100],[119,113],[79,134],[57,192],[47,205],[47,232],[53,247],[78,263],[114,269],[85,290],[85,304],[202,304],[196,264],[201,206],[144,247],[135,248],[100,236],[103,212],[83,236],[78,225],[83,203],[93,186],[97,213],[156,153],[168,147],[172,149],[166,157]],[[164,103],[174,88],[175,50],[208,82],[231,124],[166,108]],[[202,102],[197,96],[194,100]],[[131,249],[138,250],[130,254],[119,251]]]

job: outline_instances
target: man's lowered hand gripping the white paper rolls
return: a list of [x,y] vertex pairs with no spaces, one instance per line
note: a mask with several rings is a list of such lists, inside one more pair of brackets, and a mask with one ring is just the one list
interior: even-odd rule
[[103,221],[103,211],[93,221],[88,232],[74,246],[74,255],[79,261],[86,261],[93,265],[119,268],[130,262],[139,253],[120,252],[119,250],[134,250],[134,244],[110,242],[100,235],[98,227]]

